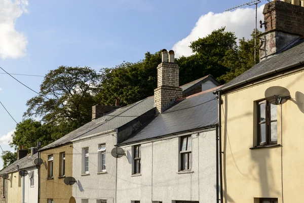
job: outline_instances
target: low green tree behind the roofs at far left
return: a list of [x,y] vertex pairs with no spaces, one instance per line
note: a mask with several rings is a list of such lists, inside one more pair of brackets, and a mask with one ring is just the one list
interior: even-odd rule
[[41,121],[25,119],[17,124],[12,135],[13,140],[9,145],[15,150],[18,150],[19,146],[29,150],[31,147],[35,147],[37,142],[46,146],[61,137],[59,127],[59,125],[42,124]]

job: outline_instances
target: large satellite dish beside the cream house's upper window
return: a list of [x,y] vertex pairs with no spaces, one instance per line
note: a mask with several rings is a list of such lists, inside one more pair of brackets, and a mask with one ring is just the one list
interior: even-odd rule
[[273,86],[265,91],[265,98],[273,105],[281,105],[291,99],[291,96],[285,87]]

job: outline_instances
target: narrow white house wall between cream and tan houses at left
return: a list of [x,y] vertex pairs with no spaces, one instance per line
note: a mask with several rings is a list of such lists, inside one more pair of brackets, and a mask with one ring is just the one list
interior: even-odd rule
[[38,170],[36,167],[26,170],[28,174],[34,172],[34,186],[30,187],[29,175],[24,177],[24,202],[36,203],[38,202]]

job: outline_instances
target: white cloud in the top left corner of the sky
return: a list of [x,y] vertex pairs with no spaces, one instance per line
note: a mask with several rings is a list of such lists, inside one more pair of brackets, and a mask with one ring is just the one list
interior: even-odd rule
[[16,20],[27,13],[27,0],[0,0],[0,57],[18,58],[25,55],[27,39],[15,29]]

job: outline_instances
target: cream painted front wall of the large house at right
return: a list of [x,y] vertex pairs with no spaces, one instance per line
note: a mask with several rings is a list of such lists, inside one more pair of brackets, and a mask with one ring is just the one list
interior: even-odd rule
[[[285,87],[292,96],[282,110],[277,108],[278,144],[282,147],[250,150],[256,143],[255,101],[263,99],[264,91],[271,86]],[[282,191],[285,202],[303,201],[303,93],[304,73],[298,72],[223,94],[224,202],[254,202],[254,197],[273,197],[281,203]]]

